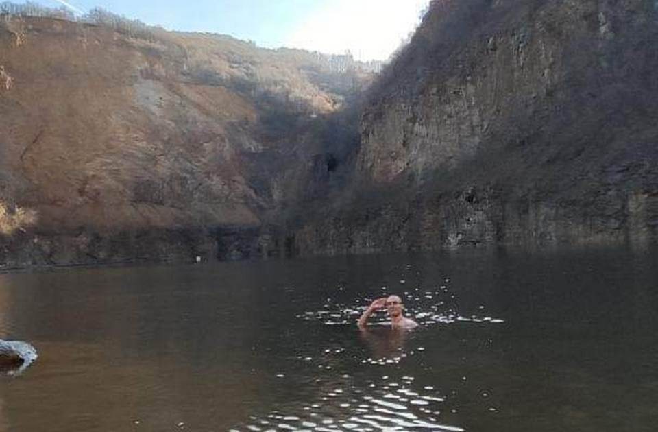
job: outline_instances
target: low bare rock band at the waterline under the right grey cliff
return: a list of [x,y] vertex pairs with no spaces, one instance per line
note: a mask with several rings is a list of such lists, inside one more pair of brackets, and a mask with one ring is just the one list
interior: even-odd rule
[[655,243],[657,195],[624,195],[589,202],[522,200],[501,191],[469,189],[434,201],[374,208],[354,204],[295,233],[301,254],[430,251],[470,245],[633,245]]

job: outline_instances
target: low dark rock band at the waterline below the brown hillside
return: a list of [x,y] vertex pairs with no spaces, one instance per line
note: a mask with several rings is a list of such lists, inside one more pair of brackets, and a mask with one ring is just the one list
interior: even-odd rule
[[197,263],[268,259],[295,254],[281,230],[269,226],[143,228],[118,232],[0,237],[0,271],[23,267]]

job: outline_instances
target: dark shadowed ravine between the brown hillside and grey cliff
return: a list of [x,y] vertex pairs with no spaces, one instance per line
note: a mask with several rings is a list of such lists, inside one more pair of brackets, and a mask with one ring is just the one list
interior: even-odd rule
[[276,203],[266,224],[294,226],[345,193],[361,143],[363,101],[355,92],[333,112],[291,112],[281,104],[261,108],[256,134],[278,144],[249,155],[254,187]]

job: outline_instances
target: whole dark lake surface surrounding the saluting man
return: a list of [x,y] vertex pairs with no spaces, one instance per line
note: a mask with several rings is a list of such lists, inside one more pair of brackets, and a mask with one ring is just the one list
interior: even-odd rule
[[[658,254],[467,250],[0,275],[0,431],[655,431]],[[354,324],[404,299],[422,327]]]

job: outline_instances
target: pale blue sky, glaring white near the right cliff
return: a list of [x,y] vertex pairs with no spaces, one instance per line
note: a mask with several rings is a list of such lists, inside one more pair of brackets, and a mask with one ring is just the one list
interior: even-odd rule
[[[24,3],[16,1],[16,3]],[[100,7],[170,30],[230,34],[261,47],[295,47],[386,60],[429,0],[38,0],[75,12]]]

